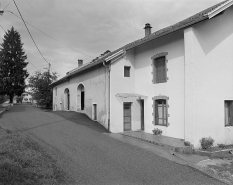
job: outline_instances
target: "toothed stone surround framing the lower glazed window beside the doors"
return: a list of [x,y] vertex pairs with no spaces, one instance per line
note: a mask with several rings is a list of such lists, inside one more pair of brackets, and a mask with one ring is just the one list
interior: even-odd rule
[[[168,123],[168,117],[169,117],[169,114],[168,114],[168,108],[169,108],[169,105],[168,105],[168,100],[169,100],[169,97],[167,96],[155,96],[152,98],[153,100],[153,125],[156,125],[156,126],[165,126],[165,127],[168,127],[170,124]],[[166,103],[165,104],[162,104],[163,105],[163,109],[162,109],[162,115],[164,116],[164,108],[166,109],[166,117],[165,118],[162,118],[162,124],[159,123],[159,115],[158,115],[158,101],[165,101]],[[164,106],[165,105],[165,106]],[[157,107],[156,107],[157,106]],[[164,120],[166,120],[166,123],[164,124]]]

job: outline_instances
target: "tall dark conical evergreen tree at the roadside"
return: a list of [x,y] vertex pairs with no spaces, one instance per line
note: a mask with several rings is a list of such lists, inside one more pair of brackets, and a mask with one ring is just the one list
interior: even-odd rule
[[0,94],[7,94],[10,103],[14,95],[20,96],[25,89],[25,79],[29,75],[25,69],[26,59],[20,34],[12,27],[0,44]]

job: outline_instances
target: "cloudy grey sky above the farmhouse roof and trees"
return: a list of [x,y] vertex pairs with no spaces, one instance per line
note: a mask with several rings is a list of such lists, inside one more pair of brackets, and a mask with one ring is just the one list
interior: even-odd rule
[[[15,0],[28,29],[51,70],[59,77],[152,32],[175,24],[223,0]],[[10,4],[9,4],[10,3]],[[48,63],[34,45],[13,0],[1,0],[0,43],[13,26],[30,61],[29,75]],[[12,14],[12,13],[13,14]],[[17,17],[18,16],[18,17]],[[35,29],[36,28],[36,29]],[[41,33],[41,32],[45,33]],[[52,37],[52,38],[51,38]],[[35,67],[34,67],[35,66]]]

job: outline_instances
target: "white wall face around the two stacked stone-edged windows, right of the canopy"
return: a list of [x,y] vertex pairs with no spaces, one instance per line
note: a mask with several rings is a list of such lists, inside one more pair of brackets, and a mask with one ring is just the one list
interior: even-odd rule
[[[167,76],[165,83],[153,84],[151,57],[161,52],[166,56]],[[148,44],[137,47],[135,51],[135,92],[148,96],[145,100],[145,131],[152,133],[154,128],[163,131],[163,135],[184,138],[184,39],[181,31],[159,38]],[[167,96],[168,127],[155,126],[153,121],[154,96]]]

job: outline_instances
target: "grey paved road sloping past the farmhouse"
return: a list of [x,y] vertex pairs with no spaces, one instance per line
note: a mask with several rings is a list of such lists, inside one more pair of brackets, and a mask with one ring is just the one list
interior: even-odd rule
[[57,151],[67,160],[75,184],[222,184],[188,166],[114,139],[82,114],[15,105],[1,117],[0,124]]

